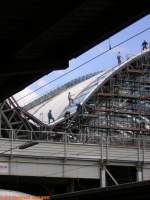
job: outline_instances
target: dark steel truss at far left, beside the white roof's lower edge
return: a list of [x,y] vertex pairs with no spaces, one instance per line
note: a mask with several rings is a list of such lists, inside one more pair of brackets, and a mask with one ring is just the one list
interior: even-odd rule
[[44,130],[45,124],[21,108],[10,97],[0,105],[0,137],[11,137],[9,130],[15,130],[15,137],[29,138],[28,131]]

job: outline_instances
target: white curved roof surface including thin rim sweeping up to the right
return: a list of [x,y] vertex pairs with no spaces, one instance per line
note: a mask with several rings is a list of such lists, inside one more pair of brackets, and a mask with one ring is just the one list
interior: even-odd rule
[[[35,106],[29,112],[33,114],[35,117],[43,121],[45,124],[48,124],[47,113],[49,110],[52,110],[53,117],[55,118],[55,122],[51,124],[56,124],[63,120],[64,113],[69,111],[71,114],[76,112],[76,104],[84,104],[90,96],[100,87],[102,86],[111,76],[116,74],[118,71],[126,68],[133,62],[134,59],[139,59],[142,55],[147,54],[150,50],[145,50],[133,57],[130,57],[121,65],[117,65],[107,71],[100,72],[99,74],[85,80],[65,91],[57,95],[56,97],[47,100],[41,103],[38,106]],[[72,94],[72,98],[74,102],[69,105],[68,101],[68,93]]]

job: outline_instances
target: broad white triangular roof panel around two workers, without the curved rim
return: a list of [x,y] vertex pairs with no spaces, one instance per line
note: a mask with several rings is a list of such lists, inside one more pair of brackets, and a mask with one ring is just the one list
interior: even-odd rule
[[[89,78],[88,80],[82,81],[81,83],[62,91],[54,98],[50,98],[49,100],[35,106],[34,108],[28,110],[28,112],[30,112],[46,124],[48,124],[47,114],[49,110],[52,110],[52,114],[56,121],[60,119],[61,116],[63,116],[65,111],[72,110],[72,112],[75,112],[76,104],[81,102],[81,99],[78,99],[79,95],[82,94],[83,91],[85,91],[88,85],[96,81],[100,74],[97,74]],[[72,98],[74,99],[74,103],[70,106],[68,101],[69,92],[71,93]]]

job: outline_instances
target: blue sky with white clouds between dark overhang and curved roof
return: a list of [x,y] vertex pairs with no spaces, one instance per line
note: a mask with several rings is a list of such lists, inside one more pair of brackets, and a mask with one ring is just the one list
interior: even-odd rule
[[[113,47],[147,28],[150,28],[150,14],[136,21],[135,23],[126,27],[120,32],[112,35],[109,39],[104,40],[103,42],[89,49],[77,58],[69,60],[69,66],[66,70],[53,71],[50,74],[47,74],[46,76],[40,78],[33,84],[26,87],[24,90],[15,94],[15,99],[18,100],[18,103],[21,106],[24,106],[32,100],[43,96],[49,91],[79,76],[96,71],[110,69],[111,67],[117,65],[116,55],[119,51],[121,53],[121,56],[123,57],[122,61],[125,61],[127,57],[133,56],[141,51],[141,44],[143,40],[146,40],[148,43],[150,42],[150,29],[134,37],[133,39],[117,46],[116,48]],[[109,50],[110,45],[112,47],[111,50]],[[103,54],[102,56],[98,56],[107,50],[109,50],[107,53]],[[93,59],[94,57],[96,58]],[[90,59],[93,60],[86,63]],[[67,72],[80,65],[82,66],[79,67],[77,70],[74,70],[73,72],[65,75]],[[64,75],[62,78],[58,79],[57,81],[53,81],[57,77],[62,75]],[[48,84],[49,82],[51,83]],[[44,85],[46,86],[43,87]]]

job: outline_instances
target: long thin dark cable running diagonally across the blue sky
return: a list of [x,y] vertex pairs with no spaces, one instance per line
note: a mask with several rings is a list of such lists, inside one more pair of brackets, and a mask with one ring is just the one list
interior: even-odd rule
[[142,30],[141,32],[139,32],[139,33],[137,33],[137,34],[135,34],[135,35],[133,35],[133,36],[129,37],[128,39],[126,39],[126,40],[124,40],[124,41],[122,41],[122,42],[118,43],[117,45],[114,45],[114,46],[113,46],[113,47],[111,47],[111,48],[109,47],[109,49],[107,49],[106,51],[103,51],[102,53],[100,53],[100,54],[96,55],[95,57],[91,58],[90,60],[88,60],[88,61],[85,61],[84,63],[82,63],[82,64],[78,65],[78,66],[77,66],[77,67],[75,67],[74,69],[72,69],[72,70],[70,70],[70,71],[66,72],[65,74],[63,74],[63,75],[61,75],[61,76],[59,76],[59,77],[57,77],[57,78],[53,79],[52,81],[50,81],[50,82],[46,83],[45,85],[43,85],[43,86],[41,86],[41,87],[37,88],[36,90],[34,90],[34,91],[32,91],[32,92],[30,92],[30,93],[28,93],[28,94],[26,94],[26,95],[22,96],[22,97],[21,97],[20,99],[18,99],[17,101],[20,101],[20,100],[24,99],[25,97],[27,97],[27,96],[29,96],[29,95],[33,94],[34,92],[36,92],[36,91],[40,90],[41,88],[43,88],[43,87],[45,87],[45,86],[47,86],[47,85],[49,85],[49,84],[51,84],[51,83],[53,83],[53,82],[55,82],[55,81],[57,81],[57,80],[61,79],[62,77],[66,76],[67,74],[69,74],[69,73],[71,73],[71,72],[75,71],[76,69],[79,69],[80,67],[82,67],[82,66],[84,66],[84,65],[88,64],[89,62],[91,62],[91,61],[95,60],[96,58],[98,58],[98,57],[100,57],[100,56],[102,56],[102,55],[106,54],[107,52],[111,51],[112,49],[114,49],[114,48],[116,48],[116,47],[120,46],[121,44],[124,44],[124,43],[128,42],[129,40],[131,40],[131,39],[133,39],[133,38],[137,37],[138,35],[141,35],[142,33],[146,32],[146,31],[148,31],[148,30],[150,30],[150,27],[148,27],[148,28],[146,28],[146,29]]

